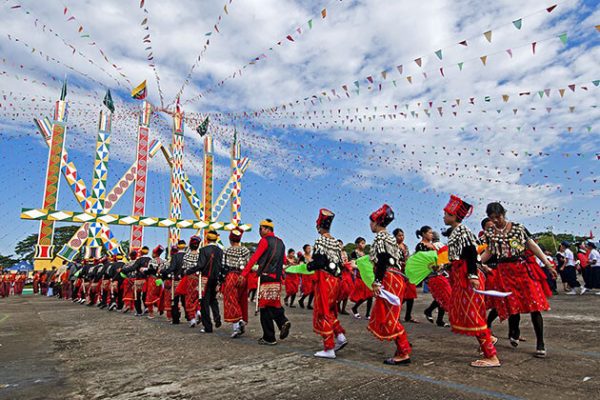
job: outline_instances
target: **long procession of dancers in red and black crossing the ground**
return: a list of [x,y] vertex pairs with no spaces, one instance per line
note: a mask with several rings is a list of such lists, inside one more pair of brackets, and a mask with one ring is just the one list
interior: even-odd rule
[[[555,262],[522,224],[506,218],[500,203],[487,206],[488,217],[481,222],[479,235],[463,224],[472,210],[470,204],[451,196],[444,207],[446,244],[429,226],[417,231],[420,241],[415,253],[447,252],[447,261],[433,266],[425,280],[433,297],[424,311],[425,319],[450,327],[454,333],[474,336],[482,357],[471,366],[489,368],[501,365],[495,347],[498,338],[492,334],[495,320],[508,320],[510,343],[518,347],[523,340],[520,316],[530,314],[536,336],[534,355],[544,358],[542,312],[549,310],[548,298],[556,291],[558,273],[569,294],[575,290],[583,294],[594,287],[600,275],[596,246],[586,243],[585,258],[578,253],[575,260],[569,243],[562,243],[564,260],[559,257]],[[410,364],[412,349],[403,323],[419,323],[412,315],[417,289],[405,273],[411,257],[405,234],[400,228],[388,231],[394,211],[384,204],[370,215],[374,239],[368,254],[363,237],[355,240],[350,255],[343,250],[342,241],[331,234],[334,217],[333,212],[320,210],[318,237],[301,252],[286,251],[275,236],[273,221],[265,219],[259,224],[261,239],[253,254],[241,245],[242,231],[229,233],[230,246],[225,249],[218,244],[218,233],[208,231],[204,240],[198,236],[188,243],[180,240],[170,249],[168,260],[162,258],[164,248],[157,246],[152,252],[148,247],[132,251],[128,260],[115,255],[65,263],[52,273],[40,274],[40,292],[52,287],[56,296],[80,304],[150,319],[165,315],[172,324],[180,324],[183,315],[190,327],[200,324],[201,332],[207,334],[225,322],[231,324],[232,338],[244,334],[249,304],[254,302],[262,327],[261,345],[276,345],[288,337],[292,324],[283,306],[295,308],[297,304],[312,311],[313,330],[323,342],[315,356],[321,358],[336,358],[348,344],[338,317],[350,314],[368,320],[375,338],[395,343],[396,351],[385,364]],[[372,265],[372,283],[357,269],[357,260],[365,256]],[[305,264],[303,271],[297,268],[301,264]],[[577,266],[587,271],[586,286],[581,289],[577,289],[581,285],[574,272]],[[223,314],[218,293],[223,297]]]

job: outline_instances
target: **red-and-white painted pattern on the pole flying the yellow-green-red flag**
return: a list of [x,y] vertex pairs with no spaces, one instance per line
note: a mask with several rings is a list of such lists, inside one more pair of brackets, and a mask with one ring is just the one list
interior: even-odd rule
[[[146,102],[144,102],[146,103]],[[148,128],[138,127],[138,146],[136,157],[136,178],[133,193],[133,215],[143,215],[146,209],[146,180],[148,172]],[[130,247],[139,249],[142,247],[144,229],[142,226],[133,226],[131,228]]]

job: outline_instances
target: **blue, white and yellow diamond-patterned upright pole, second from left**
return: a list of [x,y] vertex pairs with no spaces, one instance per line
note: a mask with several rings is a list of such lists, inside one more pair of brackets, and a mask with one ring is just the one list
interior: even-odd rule
[[[94,214],[104,212],[104,200],[106,199],[106,178],[108,176],[108,158],[110,155],[110,133],[112,114],[114,112],[110,90],[106,92],[103,104],[106,106],[106,109],[100,110],[100,117],[98,120],[96,158],[94,160],[91,204],[89,208],[89,211]],[[92,222],[90,224],[87,245],[85,248],[86,258],[100,257],[102,243],[104,241],[102,229],[103,226],[99,222]],[[106,232],[104,232],[104,235],[106,235]]]

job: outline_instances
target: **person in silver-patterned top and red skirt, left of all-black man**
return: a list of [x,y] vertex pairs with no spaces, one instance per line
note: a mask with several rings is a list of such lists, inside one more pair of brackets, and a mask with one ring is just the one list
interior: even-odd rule
[[[198,291],[198,276],[196,274],[188,275],[187,271],[195,268],[198,264],[198,249],[200,248],[201,241],[202,239],[198,236],[190,238],[188,250],[184,253],[181,259],[181,266],[179,267],[182,278],[175,288],[175,294],[183,298],[182,303],[184,304],[185,317],[189,321],[190,328],[195,327],[198,323],[196,315],[200,310],[198,304],[200,293]],[[175,321],[175,316],[173,316],[173,321]]]

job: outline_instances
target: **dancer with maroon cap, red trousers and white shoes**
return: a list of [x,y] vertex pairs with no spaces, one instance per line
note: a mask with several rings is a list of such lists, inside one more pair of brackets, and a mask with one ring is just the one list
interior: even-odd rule
[[313,330],[323,338],[324,349],[315,353],[321,358],[335,358],[335,352],[348,344],[346,331],[337,318],[343,261],[342,246],[329,233],[334,217],[325,208],[319,211],[316,225],[320,236],[313,246],[312,261],[307,264],[309,271],[315,271]]

